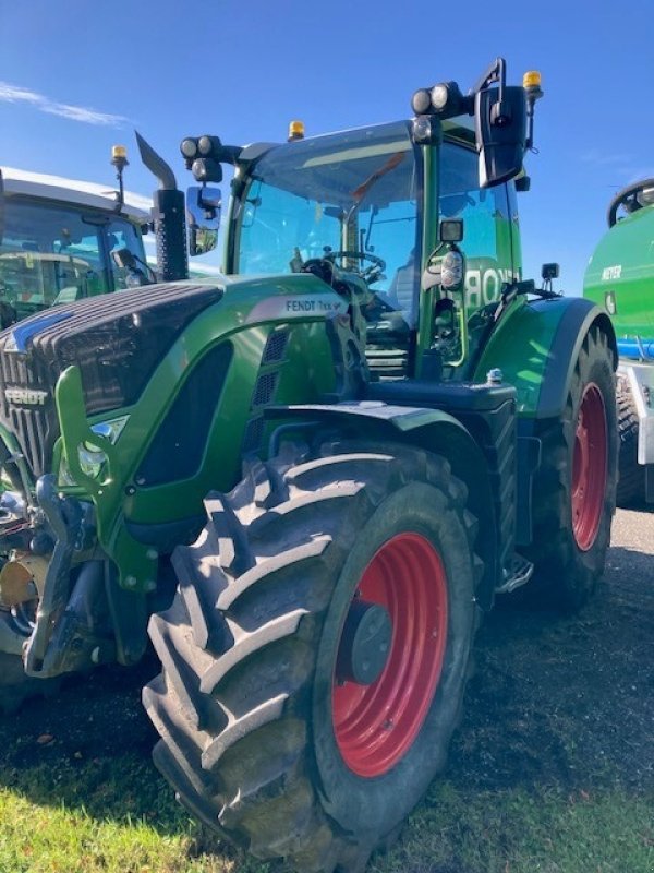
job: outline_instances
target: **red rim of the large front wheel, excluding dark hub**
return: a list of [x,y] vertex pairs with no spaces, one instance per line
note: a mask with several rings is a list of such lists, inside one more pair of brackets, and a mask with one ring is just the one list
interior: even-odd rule
[[392,623],[386,666],[370,685],[332,683],[332,723],[347,766],[372,778],[393,767],[417,737],[434,698],[447,642],[447,579],[419,534],[388,540],[366,566],[355,598],[383,606]]

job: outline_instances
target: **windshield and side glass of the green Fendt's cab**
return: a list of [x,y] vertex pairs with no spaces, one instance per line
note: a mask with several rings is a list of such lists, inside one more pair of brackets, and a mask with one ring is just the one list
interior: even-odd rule
[[[419,350],[434,343],[448,374],[462,378],[461,320],[474,332],[473,315],[518,277],[520,251],[513,183],[481,188],[473,131],[453,122],[444,129],[444,141],[426,148],[407,121],[270,148],[232,200],[227,272],[311,272],[344,283],[366,322],[373,379],[416,375]],[[423,265],[452,248],[439,241],[434,254],[434,202],[440,220],[460,223],[465,267],[450,304],[433,301],[432,320],[421,310]]]

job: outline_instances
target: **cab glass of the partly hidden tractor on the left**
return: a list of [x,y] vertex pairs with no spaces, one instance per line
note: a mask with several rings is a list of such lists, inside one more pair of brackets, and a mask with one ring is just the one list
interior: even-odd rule
[[5,198],[0,243],[0,323],[56,303],[128,287],[110,252],[130,249],[145,260],[138,229],[116,216]]

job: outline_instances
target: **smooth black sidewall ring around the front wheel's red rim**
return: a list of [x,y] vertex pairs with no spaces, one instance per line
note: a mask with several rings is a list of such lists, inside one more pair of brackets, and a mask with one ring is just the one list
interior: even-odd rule
[[[347,767],[334,733],[331,683],[336,649],[363,571],[386,541],[402,533],[422,535],[440,555],[447,577],[448,637],[434,701],[413,745],[388,773],[364,778]],[[377,507],[343,564],[318,648],[313,740],[323,806],[346,830],[367,832],[376,839],[390,832],[411,812],[445,763],[459,717],[474,633],[471,555],[461,517],[443,492],[432,485],[412,482]]]

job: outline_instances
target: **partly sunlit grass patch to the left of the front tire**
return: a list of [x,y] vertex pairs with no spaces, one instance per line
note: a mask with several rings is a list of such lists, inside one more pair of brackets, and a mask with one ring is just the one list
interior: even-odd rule
[[[56,746],[52,749],[56,754]],[[199,849],[198,826],[147,761],[53,761],[4,772],[1,873],[264,873],[227,847]]]

